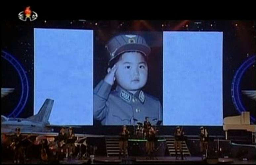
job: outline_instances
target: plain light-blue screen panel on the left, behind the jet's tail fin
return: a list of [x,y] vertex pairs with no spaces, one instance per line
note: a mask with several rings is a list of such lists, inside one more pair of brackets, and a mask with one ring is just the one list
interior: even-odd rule
[[50,124],[93,124],[93,30],[34,29],[34,114],[46,98]]

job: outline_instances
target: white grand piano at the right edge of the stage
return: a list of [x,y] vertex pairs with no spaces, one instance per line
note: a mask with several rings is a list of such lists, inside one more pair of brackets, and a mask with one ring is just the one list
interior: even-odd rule
[[223,119],[223,130],[226,140],[228,139],[228,130],[246,130],[252,132],[252,143],[255,143],[256,125],[250,124],[250,112],[242,112],[239,116],[229,116]]

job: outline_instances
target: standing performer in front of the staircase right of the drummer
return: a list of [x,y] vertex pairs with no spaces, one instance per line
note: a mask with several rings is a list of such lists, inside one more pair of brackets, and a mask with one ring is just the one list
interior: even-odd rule
[[183,160],[183,152],[182,152],[182,141],[184,139],[184,131],[179,126],[175,128],[174,132],[174,147],[175,147],[175,156],[176,160],[178,159],[178,148],[181,153],[181,159]]

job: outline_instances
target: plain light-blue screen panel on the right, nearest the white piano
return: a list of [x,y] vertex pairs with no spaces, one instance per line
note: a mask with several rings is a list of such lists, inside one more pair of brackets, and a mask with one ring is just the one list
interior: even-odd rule
[[222,32],[163,32],[163,123],[223,123]]

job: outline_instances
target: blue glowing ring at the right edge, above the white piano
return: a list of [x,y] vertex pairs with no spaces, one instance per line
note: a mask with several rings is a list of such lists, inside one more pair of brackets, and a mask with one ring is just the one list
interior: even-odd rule
[[[231,85],[231,95],[232,95],[232,101],[235,105],[236,110],[241,113],[242,111],[246,111],[242,102],[241,102],[241,89],[240,89],[240,81],[242,79],[242,76],[244,72],[251,67],[253,64],[255,64],[255,55],[248,58],[246,61],[242,63],[242,65],[237,69],[235,76],[232,80]],[[250,116],[251,120],[255,122],[254,116]]]

